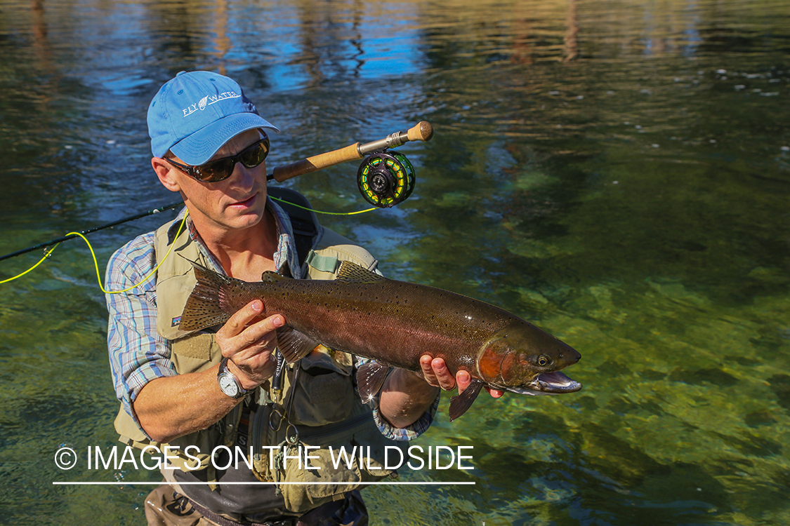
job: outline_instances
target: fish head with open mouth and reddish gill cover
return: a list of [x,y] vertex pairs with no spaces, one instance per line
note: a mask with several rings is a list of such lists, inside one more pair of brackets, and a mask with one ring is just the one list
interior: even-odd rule
[[581,389],[581,383],[559,372],[580,359],[576,349],[525,322],[487,341],[477,367],[483,381],[501,390],[562,394]]

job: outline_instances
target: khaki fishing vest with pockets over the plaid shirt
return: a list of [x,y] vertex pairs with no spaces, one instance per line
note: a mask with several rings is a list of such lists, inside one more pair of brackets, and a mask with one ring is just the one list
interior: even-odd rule
[[[292,209],[287,211],[291,213]],[[179,374],[186,374],[203,371],[218,364],[222,354],[216,345],[213,332],[189,333],[180,330],[178,326],[186,299],[196,284],[190,261],[211,268],[186,229],[178,237],[171,239],[180,221],[177,219],[156,230],[154,247],[157,261],[161,261],[167,254],[171,244],[174,245],[171,254],[164,259],[157,271],[156,328],[162,337],[171,342],[171,361],[175,370]],[[318,226],[317,222],[315,225],[318,233],[303,265],[308,278],[335,278],[341,261],[351,261],[368,270],[374,269],[378,262],[365,249],[329,229]],[[299,372],[294,386],[292,381],[295,367],[301,367],[302,371]],[[385,447],[402,448],[402,442],[391,441],[378,431],[371,409],[359,400],[359,395],[355,392],[352,369],[352,356],[319,346],[287,371],[282,404],[273,402],[269,382],[265,382],[254,394],[256,404],[251,405],[248,436],[254,451],[253,472],[258,479],[267,482],[309,483],[326,482],[329,476],[331,481],[345,482],[338,485],[284,485],[281,488],[283,496],[288,509],[293,512],[307,511],[329,500],[342,498],[345,492],[352,491],[363,483],[393,473],[392,470],[384,469]],[[288,402],[289,397],[293,397],[291,403]],[[177,459],[173,460],[173,450],[168,454],[171,464],[182,471],[209,468],[209,480],[212,480],[215,478],[210,453],[216,446],[229,446],[232,449],[243,403],[236,405],[228,415],[209,428],[175,438],[167,444],[147,438],[123,408],[115,419],[115,430],[119,432],[121,442],[139,449],[153,446],[164,452],[165,446],[179,447],[182,454]],[[284,406],[290,407],[292,414],[288,415],[287,421],[280,421]],[[289,437],[294,435],[294,429],[299,431],[300,444],[319,446],[318,450],[310,449],[310,463],[320,465],[322,469],[299,468],[298,463],[293,461],[287,464],[285,470],[271,469],[271,450],[262,446],[283,444],[286,434]],[[191,457],[187,456],[183,453],[187,446],[198,446],[200,453],[195,454],[193,449],[190,450]],[[341,462],[336,469],[330,460],[329,446],[333,448],[335,457],[341,446],[345,446],[348,452],[354,446],[365,446],[365,454],[360,459],[358,452],[350,468]],[[313,457],[318,457],[319,460],[312,460]]]

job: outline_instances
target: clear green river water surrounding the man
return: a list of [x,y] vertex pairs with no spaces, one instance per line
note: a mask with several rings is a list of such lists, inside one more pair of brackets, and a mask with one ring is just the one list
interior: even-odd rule
[[[582,354],[577,394],[444,397],[416,443],[473,469],[368,488],[373,524],[790,524],[786,2],[0,0],[0,255],[175,200],[145,110],[182,69],[239,80],[269,166],[430,121],[408,201],[322,221]],[[356,169],[285,185],[357,211]],[[92,234],[100,267],[171,217]],[[3,524],[144,524],[159,473],[85,465],[118,444],[106,326],[82,241],[0,285]]]

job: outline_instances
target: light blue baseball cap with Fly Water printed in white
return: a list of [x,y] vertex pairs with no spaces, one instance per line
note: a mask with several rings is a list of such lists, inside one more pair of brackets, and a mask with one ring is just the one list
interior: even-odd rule
[[172,151],[190,165],[203,164],[248,129],[280,130],[258,115],[235,80],[209,71],[182,71],[156,93],[148,111],[151,153]]

